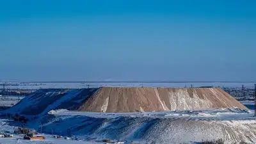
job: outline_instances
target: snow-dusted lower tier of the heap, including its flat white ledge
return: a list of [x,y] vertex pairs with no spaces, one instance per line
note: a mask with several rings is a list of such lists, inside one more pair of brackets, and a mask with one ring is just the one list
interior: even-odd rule
[[[72,133],[82,138],[138,141],[142,143],[189,143],[225,140],[256,141],[253,113],[242,109],[163,111],[150,113],[83,113],[51,111],[42,131]],[[70,132],[68,132],[70,131]]]

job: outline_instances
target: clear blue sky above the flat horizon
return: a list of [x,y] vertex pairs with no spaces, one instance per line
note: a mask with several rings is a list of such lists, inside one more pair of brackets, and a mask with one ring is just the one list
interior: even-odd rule
[[256,81],[256,1],[1,1],[0,79]]

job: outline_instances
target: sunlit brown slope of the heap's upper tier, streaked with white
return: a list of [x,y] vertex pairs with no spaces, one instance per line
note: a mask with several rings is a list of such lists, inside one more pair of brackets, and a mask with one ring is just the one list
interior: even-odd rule
[[88,97],[79,111],[127,113],[211,108],[241,108],[243,104],[221,88],[102,87]]

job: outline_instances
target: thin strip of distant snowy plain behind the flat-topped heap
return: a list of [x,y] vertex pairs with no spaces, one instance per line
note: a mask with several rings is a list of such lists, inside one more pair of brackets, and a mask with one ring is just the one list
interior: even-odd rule
[[40,89],[40,88],[99,88],[100,86],[127,86],[127,87],[184,87],[214,86],[218,87],[241,87],[254,88],[254,83],[41,83],[41,84],[20,84],[19,86],[6,86],[6,88],[19,89]]

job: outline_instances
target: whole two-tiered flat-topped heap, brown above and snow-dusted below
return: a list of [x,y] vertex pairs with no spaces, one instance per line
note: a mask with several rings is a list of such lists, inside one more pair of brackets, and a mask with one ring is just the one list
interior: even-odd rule
[[[26,116],[29,118],[26,127],[42,129],[46,134],[71,134],[84,140],[106,138],[141,143],[191,143],[223,139],[226,143],[256,142],[256,118],[252,111],[220,89],[106,89],[38,90],[0,113]],[[136,113],[90,112],[93,106],[100,111],[103,107],[102,112],[116,108],[142,110]],[[144,112],[151,106],[155,112]],[[19,124],[10,122],[8,125]]]

